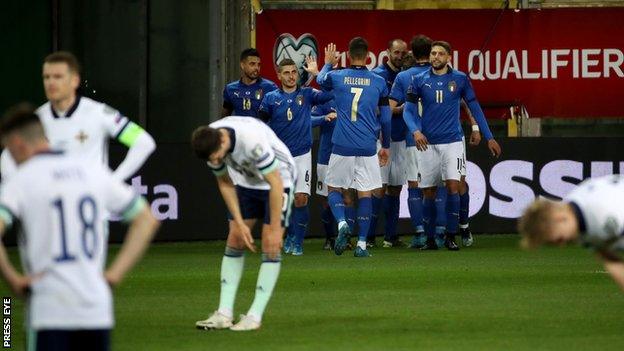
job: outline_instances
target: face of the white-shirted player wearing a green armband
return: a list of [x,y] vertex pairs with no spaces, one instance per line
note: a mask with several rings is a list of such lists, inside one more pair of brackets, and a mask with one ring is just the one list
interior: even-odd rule
[[64,62],[43,64],[43,89],[49,101],[62,101],[76,95],[80,77]]

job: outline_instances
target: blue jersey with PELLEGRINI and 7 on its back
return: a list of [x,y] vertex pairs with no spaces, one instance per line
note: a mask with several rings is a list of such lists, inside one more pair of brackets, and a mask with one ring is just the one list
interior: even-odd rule
[[377,152],[377,135],[381,114],[382,142],[390,145],[390,106],[388,87],[383,78],[366,66],[352,66],[330,71],[326,64],[316,78],[325,90],[334,93],[336,128],[332,136],[332,153],[341,156],[373,156]]

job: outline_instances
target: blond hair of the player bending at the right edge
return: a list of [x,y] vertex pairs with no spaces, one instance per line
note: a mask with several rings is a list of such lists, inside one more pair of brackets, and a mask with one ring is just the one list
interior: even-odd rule
[[520,246],[524,249],[535,249],[546,241],[551,230],[551,215],[555,202],[545,199],[535,200],[524,210],[518,220],[518,231],[522,235]]

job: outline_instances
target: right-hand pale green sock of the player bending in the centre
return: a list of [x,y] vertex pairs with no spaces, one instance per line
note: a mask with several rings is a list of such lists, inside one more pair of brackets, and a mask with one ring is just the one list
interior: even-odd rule
[[274,259],[269,259],[265,254],[262,254],[262,264],[260,265],[258,282],[256,283],[256,296],[249,308],[249,312],[247,312],[247,315],[257,322],[262,321],[264,310],[273,294],[273,288],[275,288],[282,266],[281,261],[282,258],[279,255]]

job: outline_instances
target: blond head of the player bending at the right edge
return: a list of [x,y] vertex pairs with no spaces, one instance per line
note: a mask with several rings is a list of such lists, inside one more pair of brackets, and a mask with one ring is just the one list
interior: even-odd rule
[[521,245],[532,249],[543,244],[562,245],[578,236],[578,220],[570,204],[538,199],[518,221]]

